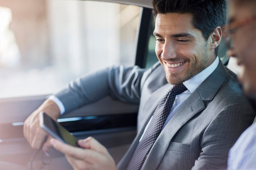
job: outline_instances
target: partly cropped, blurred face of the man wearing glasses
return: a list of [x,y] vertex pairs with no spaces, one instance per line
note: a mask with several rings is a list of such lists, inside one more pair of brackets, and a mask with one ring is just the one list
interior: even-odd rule
[[[254,3],[253,3],[254,2]],[[245,3],[248,3],[245,1]],[[247,19],[255,15],[256,1],[248,5],[239,5],[236,1],[230,3],[228,22]],[[248,95],[256,95],[256,22],[238,27],[231,34],[233,48],[228,51],[229,56],[237,58],[238,65],[243,68],[239,79]]]

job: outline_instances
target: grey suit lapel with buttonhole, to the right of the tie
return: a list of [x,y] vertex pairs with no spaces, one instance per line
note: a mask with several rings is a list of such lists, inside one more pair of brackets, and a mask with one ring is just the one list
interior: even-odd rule
[[166,124],[152,146],[142,170],[156,169],[158,167],[173,136],[195,114],[205,109],[203,100],[212,100],[227,76],[227,71],[225,71],[220,61],[216,70],[214,70],[214,72],[189,96]]

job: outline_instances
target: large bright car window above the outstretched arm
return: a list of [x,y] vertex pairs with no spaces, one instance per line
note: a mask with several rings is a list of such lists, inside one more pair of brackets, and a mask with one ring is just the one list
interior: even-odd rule
[[134,65],[139,16],[140,7],[117,3],[2,0],[0,98],[47,95],[78,76]]

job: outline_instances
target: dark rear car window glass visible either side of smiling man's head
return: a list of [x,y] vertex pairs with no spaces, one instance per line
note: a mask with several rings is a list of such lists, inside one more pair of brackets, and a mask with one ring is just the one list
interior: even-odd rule
[[[150,27],[149,27],[149,35],[148,35],[148,46],[147,46],[147,52],[145,56],[145,63],[144,68],[149,68],[154,63],[158,61],[155,53],[155,46],[156,46],[156,37],[153,35],[155,23],[154,23],[154,17],[151,17]],[[222,63],[224,65],[227,65],[228,63],[228,56],[226,54],[227,46],[225,45],[223,39],[221,40],[221,43],[219,45],[218,49],[218,57],[221,59]]]

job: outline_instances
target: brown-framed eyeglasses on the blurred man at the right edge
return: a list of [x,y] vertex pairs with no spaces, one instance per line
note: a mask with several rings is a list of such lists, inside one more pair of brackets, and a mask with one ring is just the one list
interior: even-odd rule
[[226,26],[222,27],[223,37],[227,44],[228,49],[234,47],[231,35],[235,34],[235,32],[237,31],[238,28],[240,28],[242,26],[246,26],[248,24],[251,24],[254,21],[256,21],[256,15],[254,15],[253,17],[250,17],[250,18],[231,22],[230,24],[227,24]]

